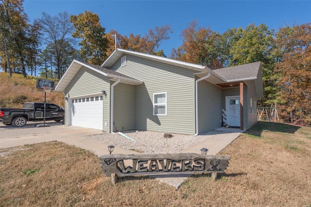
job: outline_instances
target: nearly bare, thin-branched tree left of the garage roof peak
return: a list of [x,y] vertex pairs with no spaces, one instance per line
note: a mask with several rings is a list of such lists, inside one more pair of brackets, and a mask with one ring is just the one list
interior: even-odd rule
[[67,12],[59,13],[52,17],[43,12],[42,17],[35,20],[42,33],[42,40],[45,45],[51,45],[55,50],[57,79],[61,78],[61,61],[66,42],[72,42],[70,38],[74,28],[69,21]]

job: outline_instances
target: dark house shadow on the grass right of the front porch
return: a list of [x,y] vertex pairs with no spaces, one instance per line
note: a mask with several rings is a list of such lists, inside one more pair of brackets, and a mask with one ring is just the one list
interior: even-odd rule
[[263,131],[294,134],[300,128],[301,128],[300,126],[290,125],[286,123],[258,121],[257,124],[255,124],[246,131],[246,134],[253,136],[261,136]]

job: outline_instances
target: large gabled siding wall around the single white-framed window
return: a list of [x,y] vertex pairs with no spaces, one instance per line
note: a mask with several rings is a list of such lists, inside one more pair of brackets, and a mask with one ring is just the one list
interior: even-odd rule
[[[123,55],[124,56],[124,55]],[[194,134],[194,79],[196,71],[126,55],[126,66],[121,58],[111,69],[135,77],[144,83],[135,92],[135,127],[180,134]],[[167,115],[153,115],[153,94],[167,93]]]

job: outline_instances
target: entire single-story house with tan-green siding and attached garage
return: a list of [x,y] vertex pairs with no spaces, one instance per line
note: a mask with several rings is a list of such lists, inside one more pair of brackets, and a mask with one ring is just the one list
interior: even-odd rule
[[263,97],[260,62],[211,70],[122,49],[101,66],[73,60],[55,90],[65,94],[65,125],[112,133],[245,131]]

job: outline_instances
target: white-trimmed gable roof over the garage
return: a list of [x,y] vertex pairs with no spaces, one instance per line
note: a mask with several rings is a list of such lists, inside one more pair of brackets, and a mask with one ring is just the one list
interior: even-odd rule
[[100,74],[103,74],[104,76],[111,77],[112,79],[110,80],[113,80],[113,81],[116,81],[118,78],[120,78],[121,83],[126,83],[126,84],[131,84],[131,85],[140,85],[143,83],[142,81],[136,78],[132,78],[128,75],[124,75],[120,72],[117,72],[111,69],[106,69],[101,66],[96,66],[96,65],[78,61],[78,60],[73,60],[69,68],[66,70],[65,74],[59,80],[57,86],[55,87],[55,90],[64,91],[65,88],[68,86],[69,82],[71,81],[71,79],[75,76],[75,74],[78,72],[78,70],[82,66],[85,66],[88,69],[92,69]]

